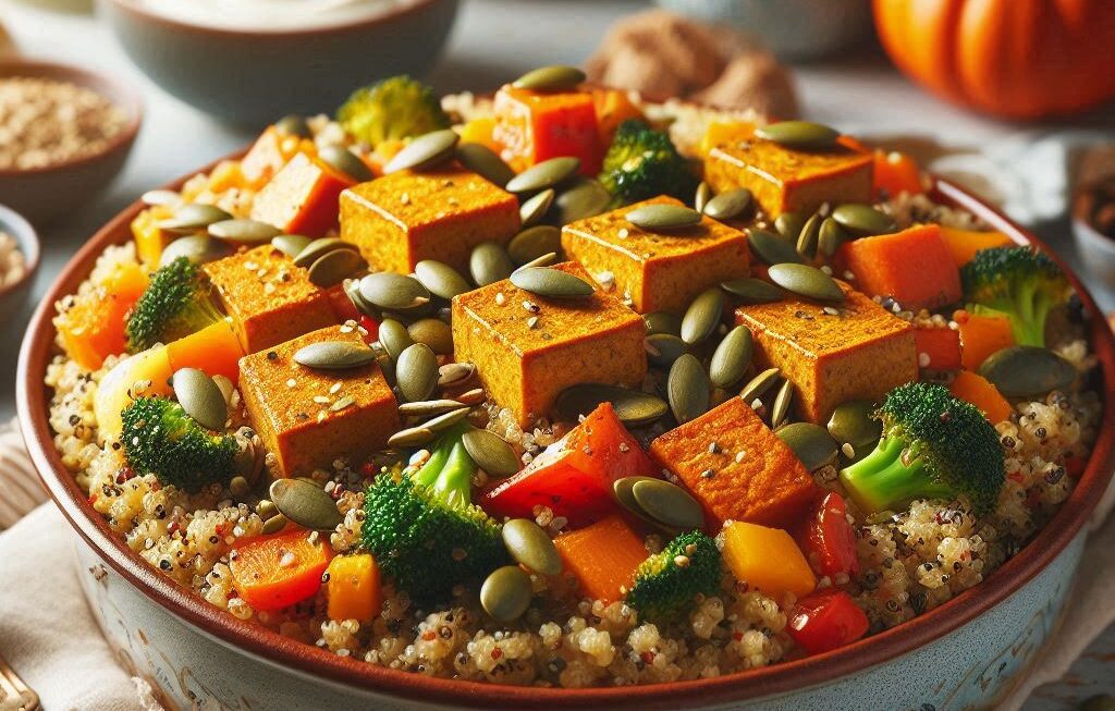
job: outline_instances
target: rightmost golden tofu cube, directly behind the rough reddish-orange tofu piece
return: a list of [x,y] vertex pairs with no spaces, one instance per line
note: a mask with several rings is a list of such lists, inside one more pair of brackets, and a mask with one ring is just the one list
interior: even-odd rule
[[795,298],[736,309],[736,322],[755,337],[755,362],[782,369],[809,422],[825,422],[841,402],[879,399],[918,379],[913,327],[837,283],[846,299],[835,313]]

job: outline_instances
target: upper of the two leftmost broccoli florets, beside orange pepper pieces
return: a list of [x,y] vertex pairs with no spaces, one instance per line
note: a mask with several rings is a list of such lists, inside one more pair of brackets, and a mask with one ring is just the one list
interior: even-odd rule
[[169,343],[221,319],[211,292],[201,267],[184,256],[156,270],[128,313],[128,352]]

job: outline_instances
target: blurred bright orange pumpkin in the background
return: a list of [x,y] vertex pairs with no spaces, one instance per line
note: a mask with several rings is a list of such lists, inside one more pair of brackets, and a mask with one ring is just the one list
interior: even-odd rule
[[1115,96],[1111,0],[874,0],[905,75],[1009,118],[1073,114]]

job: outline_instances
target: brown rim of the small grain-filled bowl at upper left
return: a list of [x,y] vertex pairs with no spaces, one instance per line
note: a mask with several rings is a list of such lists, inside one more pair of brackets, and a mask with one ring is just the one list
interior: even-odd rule
[[[61,163],[51,163],[37,168],[0,168],[0,179],[27,178],[65,173],[79,168],[101,160],[105,156],[118,150],[126,150],[139,134],[139,127],[143,125],[144,118],[143,98],[138,91],[115,77],[59,61],[28,59],[19,56],[0,59],[0,77],[17,76],[42,77],[76,84],[79,87],[97,92],[114,106],[127,111],[128,121],[120,133],[113,136],[108,144],[96,153],[70,158]],[[103,90],[103,87],[108,87],[109,91]]]

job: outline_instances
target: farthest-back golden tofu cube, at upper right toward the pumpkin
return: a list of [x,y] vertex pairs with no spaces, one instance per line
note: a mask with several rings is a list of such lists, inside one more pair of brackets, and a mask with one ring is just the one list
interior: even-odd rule
[[873,158],[844,146],[795,150],[762,138],[729,139],[705,158],[705,181],[720,193],[752,191],[767,217],[813,213],[822,203],[870,203]]

